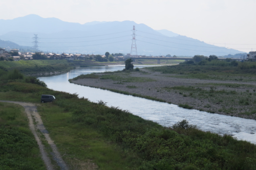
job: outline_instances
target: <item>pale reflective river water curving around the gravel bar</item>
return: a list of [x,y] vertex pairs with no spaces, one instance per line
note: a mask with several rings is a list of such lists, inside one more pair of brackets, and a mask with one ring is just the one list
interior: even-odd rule
[[[136,65],[142,68],[147,65]],[[69,93],[77,93],[80,97],[88,98],[92,102],[100,100],[107,102],[108,106],[129,110],[131,113],[144,119],[153,120],[162,126],[172,126],[180,120],[187,119],[190,124],[197,125],[203,131],[211,131],[218,134],[229,134],[240,140],[247,140],[256,144],[256,120],[232,117],[220,114],[212,114],[198,110],[188,110],[177,105],[161,103],[124,95],[108,90],[86,87],[70,83],[68,80],[81,74],[92,72],[122,70],[124,65],[104,67],[84,67],[73,69],[65,74],[39,77],[48,88]]]

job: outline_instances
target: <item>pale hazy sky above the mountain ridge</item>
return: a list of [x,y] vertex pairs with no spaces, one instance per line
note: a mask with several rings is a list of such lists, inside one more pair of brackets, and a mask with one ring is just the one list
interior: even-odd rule
[[0,0],[0,7],[0,19],[37,14],[79,23],[132,20],[155,30],[256,51],[256,0]]

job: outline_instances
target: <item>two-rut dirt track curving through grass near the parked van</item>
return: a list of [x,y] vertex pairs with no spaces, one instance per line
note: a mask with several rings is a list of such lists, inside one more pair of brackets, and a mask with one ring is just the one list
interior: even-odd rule
[[[61,156],[60,156],[60,154],[57,150],[56,145],[54,144],[53,140],[50,138],[49,132],[46,130],[44,124],[42,123],[42,119],[41,119],[40,115],[38,114],[38,112],[36,110],[36,105],[35,104],[24,103],[24,102],[11,102],[11,101],[0,101],[0,102],[15,103],[15,104],[19,104],[19,105],[21,105],[25,108],[25,112],[26,112],[26,114],[29,118],[29,128],[30,128],[31,132],[33,133],[33,135],[35,136],[35,139],[36,139],[37,144],[38,144],[39,149],[40,149],[42,160],[44,160],[48,170],[54,170],[54,166],[52,165],[51,160],[48,157],[47,152],[45,151],[44,144],[42,144],[40,138],[38,137],[38,135],[36,133],[36,130],[40,130],[41,133],[44,134],[46,140],[48,141],[48,143],[50,144],[50,146],[52,148],[53,153],[51,153],[51,155],[53,155],[53,159],[57,162],[60,169],[61,170],[68,169],[68,166],[66,165],[66,163],[61,158]],[[35,118],[36,127],[33,124],[32,117]]]

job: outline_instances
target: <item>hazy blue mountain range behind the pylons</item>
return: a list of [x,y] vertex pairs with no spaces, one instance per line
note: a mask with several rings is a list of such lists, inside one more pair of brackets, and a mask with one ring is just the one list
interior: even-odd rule
[[0,38],[22,46],[32,46],[38,34],[39,50],[50,52],[104,54],[130,53],[132,29],[136,29],[138,55],[217,55],[244,53],[210,45],[197,39],[177,35],[168,30],[153,30],[134,21],[93,21],[85,24],[65,22],[57,18],[27,15],[0,20]]

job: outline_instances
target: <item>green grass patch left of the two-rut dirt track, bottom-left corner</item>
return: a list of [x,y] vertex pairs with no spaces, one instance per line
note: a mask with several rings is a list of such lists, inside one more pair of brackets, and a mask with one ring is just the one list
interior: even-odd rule
[[0,169],[46,169],[24,108],[1,102]]

